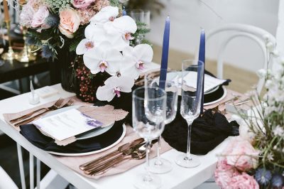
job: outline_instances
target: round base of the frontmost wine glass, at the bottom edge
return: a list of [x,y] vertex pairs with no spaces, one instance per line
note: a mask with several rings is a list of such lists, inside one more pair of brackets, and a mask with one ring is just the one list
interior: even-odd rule
[[139,174],[136,176],[133,185],[139,189],[156,189],[162,185],[162,180],[157,175]]

